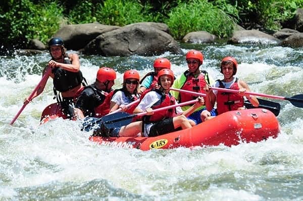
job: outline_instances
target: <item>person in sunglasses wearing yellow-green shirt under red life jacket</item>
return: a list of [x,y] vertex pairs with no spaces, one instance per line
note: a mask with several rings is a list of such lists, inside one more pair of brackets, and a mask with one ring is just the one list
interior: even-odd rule
[[[203,54],[197,50],[189,50],[186,53],[186,62],[188,70],[186,70],[181,76],[179,76],[173,85],[173,88],[182,89],[186,91],[192,91],[197,93],[205,93],[204,87],[208,84],[213,84],[214,80],[209,76],[206,71],[199,69],[203,64]],[[179,103],[196,99],[196,95],[190,95],[186,93],[180,93],[177,91],[171,91],[172,95],[178,100]],[[182,110],[185,111],[190,105],[182,106]],[[201,112],[206,110],[205,105],[196,108],[196,110],[187,118],[193,120],[195,124],[201,123],[204,117],[201,118]],[[207,114],[205,114],[207,115]],[[215,109],[211,110],[211,115],[216,116]]]

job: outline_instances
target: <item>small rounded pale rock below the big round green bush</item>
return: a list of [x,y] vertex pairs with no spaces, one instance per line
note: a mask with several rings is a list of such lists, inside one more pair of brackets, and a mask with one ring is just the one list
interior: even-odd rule
[[182,41],[185,43],[212,43],[217,37],[207,31],[195,31],[186,34]]

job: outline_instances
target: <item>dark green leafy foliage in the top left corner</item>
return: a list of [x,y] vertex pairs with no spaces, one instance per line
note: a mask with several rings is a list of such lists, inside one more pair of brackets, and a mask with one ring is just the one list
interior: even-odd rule
[[63,9],[57,1],[34,5],[30,0],[11,0],[8,12],[1,16],[2,35],[15,44],[16,41],[39,39],[42,42],[59,29]]

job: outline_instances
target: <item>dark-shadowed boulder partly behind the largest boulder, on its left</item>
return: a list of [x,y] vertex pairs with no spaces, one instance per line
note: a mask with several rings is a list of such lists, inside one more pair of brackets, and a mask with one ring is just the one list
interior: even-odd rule
[[67,25],[58,30],[53,37],[60,37],[67,49],[79,50],[100,34],[119,29],[99,23]]

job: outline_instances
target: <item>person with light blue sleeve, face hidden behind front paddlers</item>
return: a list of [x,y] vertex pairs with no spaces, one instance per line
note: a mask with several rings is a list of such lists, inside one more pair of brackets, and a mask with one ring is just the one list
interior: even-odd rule
[[162,69],[171,69],[171,62],[167,58],[157,58],[154,61],[154,72],[147,73],[140,81],[139,94],[146,89],[154,88],[158,83],[158,73]]

